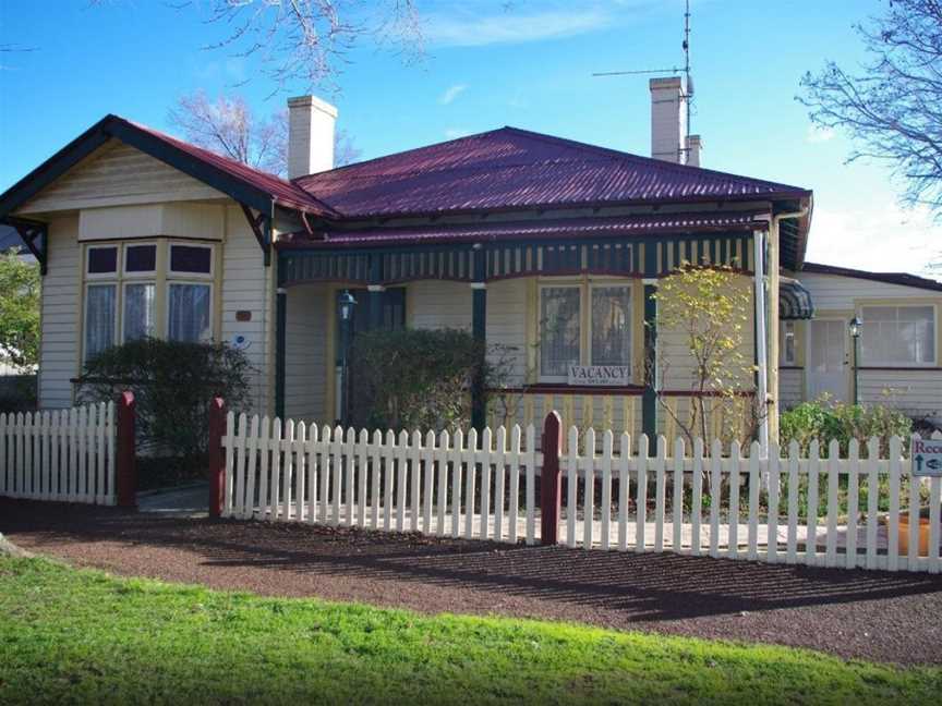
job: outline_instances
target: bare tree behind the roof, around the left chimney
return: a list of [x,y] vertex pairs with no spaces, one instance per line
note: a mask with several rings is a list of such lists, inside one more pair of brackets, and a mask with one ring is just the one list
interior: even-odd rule
[[[258,118],[241,96],[209,100],[197,90],[183,96],[168,115],[185,139],[255,169],[283,176],[288,173],[288,111]],[[349,165],[360,150],[346,131],[334,138],[334,163]]]

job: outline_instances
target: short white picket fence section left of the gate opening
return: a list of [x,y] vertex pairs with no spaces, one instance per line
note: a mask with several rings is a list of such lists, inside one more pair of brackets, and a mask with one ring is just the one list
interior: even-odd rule
[[114,504],[114,403],[0,414],[0,496]]

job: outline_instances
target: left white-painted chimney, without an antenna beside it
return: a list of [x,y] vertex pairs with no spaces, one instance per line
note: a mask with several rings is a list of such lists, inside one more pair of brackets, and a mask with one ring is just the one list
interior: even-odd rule
[[316,96],[288,99],[288,179],[334,168],[337,109]]

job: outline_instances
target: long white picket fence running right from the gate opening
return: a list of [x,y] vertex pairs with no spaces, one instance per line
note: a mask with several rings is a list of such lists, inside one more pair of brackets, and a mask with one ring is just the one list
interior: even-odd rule
[[[856,442],[840,458],[792,445],[760,458],[718,441],[709,453],[681,439],[653,455],[641,436],[568,433],[559,539],[570,547],[674,551],[809,565],[939,572],[940,478],[910,482],[903,442]],[[543,453],[533,426],[467,435],[317,428],[231,413],[224,516],[357,526],[534,544],[540,537]],[[596,446],[596,442],[601,442]],[[632,451],[633,449],[633,451]],[[724,452],[725,451],[725,452]],[[587,488],[591,491],[587,491]],[[669,489],[669,492],[668,492]],[[921,494],[921,495],[920,495]],[[928,494],[928,500],[925,496]],[[860,498],[863,498],[862,500]],[[822,502],[823,501],[823,502]],[[909,508],[930,507],[929,551]],[[819,508],[823,506],[823,510]],[[773,511],[769,511],[769,509]],[[692,510],[696,509],[696,510]]]

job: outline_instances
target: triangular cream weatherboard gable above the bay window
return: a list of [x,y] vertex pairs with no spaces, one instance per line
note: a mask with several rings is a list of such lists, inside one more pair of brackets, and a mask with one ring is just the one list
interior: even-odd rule
[[215,188],[159,159],[112,139],[33,197],[17,214],[222,197]]

